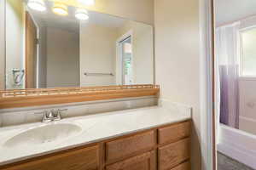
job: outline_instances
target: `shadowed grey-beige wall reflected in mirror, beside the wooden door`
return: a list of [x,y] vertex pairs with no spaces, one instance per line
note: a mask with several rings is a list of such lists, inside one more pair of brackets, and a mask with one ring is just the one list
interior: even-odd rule
[[47,28],[47,88],[79,86],[79,33]]

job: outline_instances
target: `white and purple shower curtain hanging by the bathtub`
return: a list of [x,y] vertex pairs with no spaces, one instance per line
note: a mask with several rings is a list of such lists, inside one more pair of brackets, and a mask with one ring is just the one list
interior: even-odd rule
[[239,127],[238,78],[240,22],[216,29],[215,87],[217,120]]

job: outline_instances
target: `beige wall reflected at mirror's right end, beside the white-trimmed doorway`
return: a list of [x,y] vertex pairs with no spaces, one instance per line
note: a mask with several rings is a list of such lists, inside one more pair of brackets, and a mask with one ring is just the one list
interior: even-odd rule
[[135,21],[127,21],[125,26],[119,28],[119,37],[122,37],[128,31],[131,31],[132,34],[131,46],[134,84],[153,84],[153,27]]

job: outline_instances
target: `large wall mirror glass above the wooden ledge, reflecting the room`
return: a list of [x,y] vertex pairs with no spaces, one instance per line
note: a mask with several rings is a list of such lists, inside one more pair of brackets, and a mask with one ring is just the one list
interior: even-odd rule
[[54,0],[6,0],[6,89],[153,84],[153,59],[152,26]]

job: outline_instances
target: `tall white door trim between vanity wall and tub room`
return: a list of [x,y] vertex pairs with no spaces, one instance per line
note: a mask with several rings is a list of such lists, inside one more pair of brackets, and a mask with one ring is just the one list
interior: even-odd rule
[[213,169],[212,0],[200,0],[201,169]]

